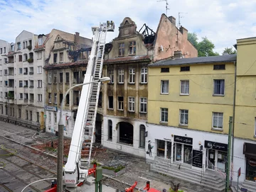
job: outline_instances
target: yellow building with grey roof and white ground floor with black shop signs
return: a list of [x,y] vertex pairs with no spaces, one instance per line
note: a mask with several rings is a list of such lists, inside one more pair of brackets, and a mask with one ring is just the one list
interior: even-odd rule
[[148,162],[225,173],[236,57],[181,58],[175,52],[149,64]]

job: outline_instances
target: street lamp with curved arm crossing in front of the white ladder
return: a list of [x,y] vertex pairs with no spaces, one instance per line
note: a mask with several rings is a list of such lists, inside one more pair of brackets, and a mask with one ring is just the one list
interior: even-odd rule
[[75,86],[71,86],[68,91],[65,92],[63,100],[61,101],[60,106],[60,120],[58,122],[58,157],[57,157],[57,191],[63,192],[63,130],[64,130],[64,122],[63,122],[63,106],[65,103],[65,97],[69,94],[69,92],[78,86],[83,86],[86,84],[94,84],[99,82],[109,82],[110,77],[102,77],[96,81],[90,81],[83,84],[76,84]]

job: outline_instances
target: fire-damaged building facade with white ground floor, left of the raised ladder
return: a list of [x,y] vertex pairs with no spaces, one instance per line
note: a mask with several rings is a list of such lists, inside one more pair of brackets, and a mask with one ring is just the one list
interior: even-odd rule
[[[46,131],[58,134],[60,104],[65,91],[82,84],[90,55],[92,40],[53,29],[46,40]],[[80,91],[77,87],[65,98],[63,118],[65,118],[64,136],[72,137]]]

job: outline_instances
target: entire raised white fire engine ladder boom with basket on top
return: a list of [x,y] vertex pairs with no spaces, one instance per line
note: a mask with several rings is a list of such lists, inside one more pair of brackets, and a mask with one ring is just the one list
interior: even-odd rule
[[64,184],[68,188],[75,188],[78,183],[85,181],[90,168],[107,31],[114,31],[114,22],[107,21],[100,23],[100,27],[92,28],[95,36],[83,82],[85,85],[82,86],[68,161],[63,168]]

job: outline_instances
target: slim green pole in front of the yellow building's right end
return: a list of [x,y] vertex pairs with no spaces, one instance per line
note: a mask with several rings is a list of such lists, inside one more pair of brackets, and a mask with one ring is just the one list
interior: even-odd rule
[[229,130],[228,130],[228,162],[227,162],[227,173],[226,173],[226,181],[225,181],[225,192],[230,190],[230,160],[231,160],[231,137],[232,137],[232,123],[233,117],[230,116],[229,119]]

